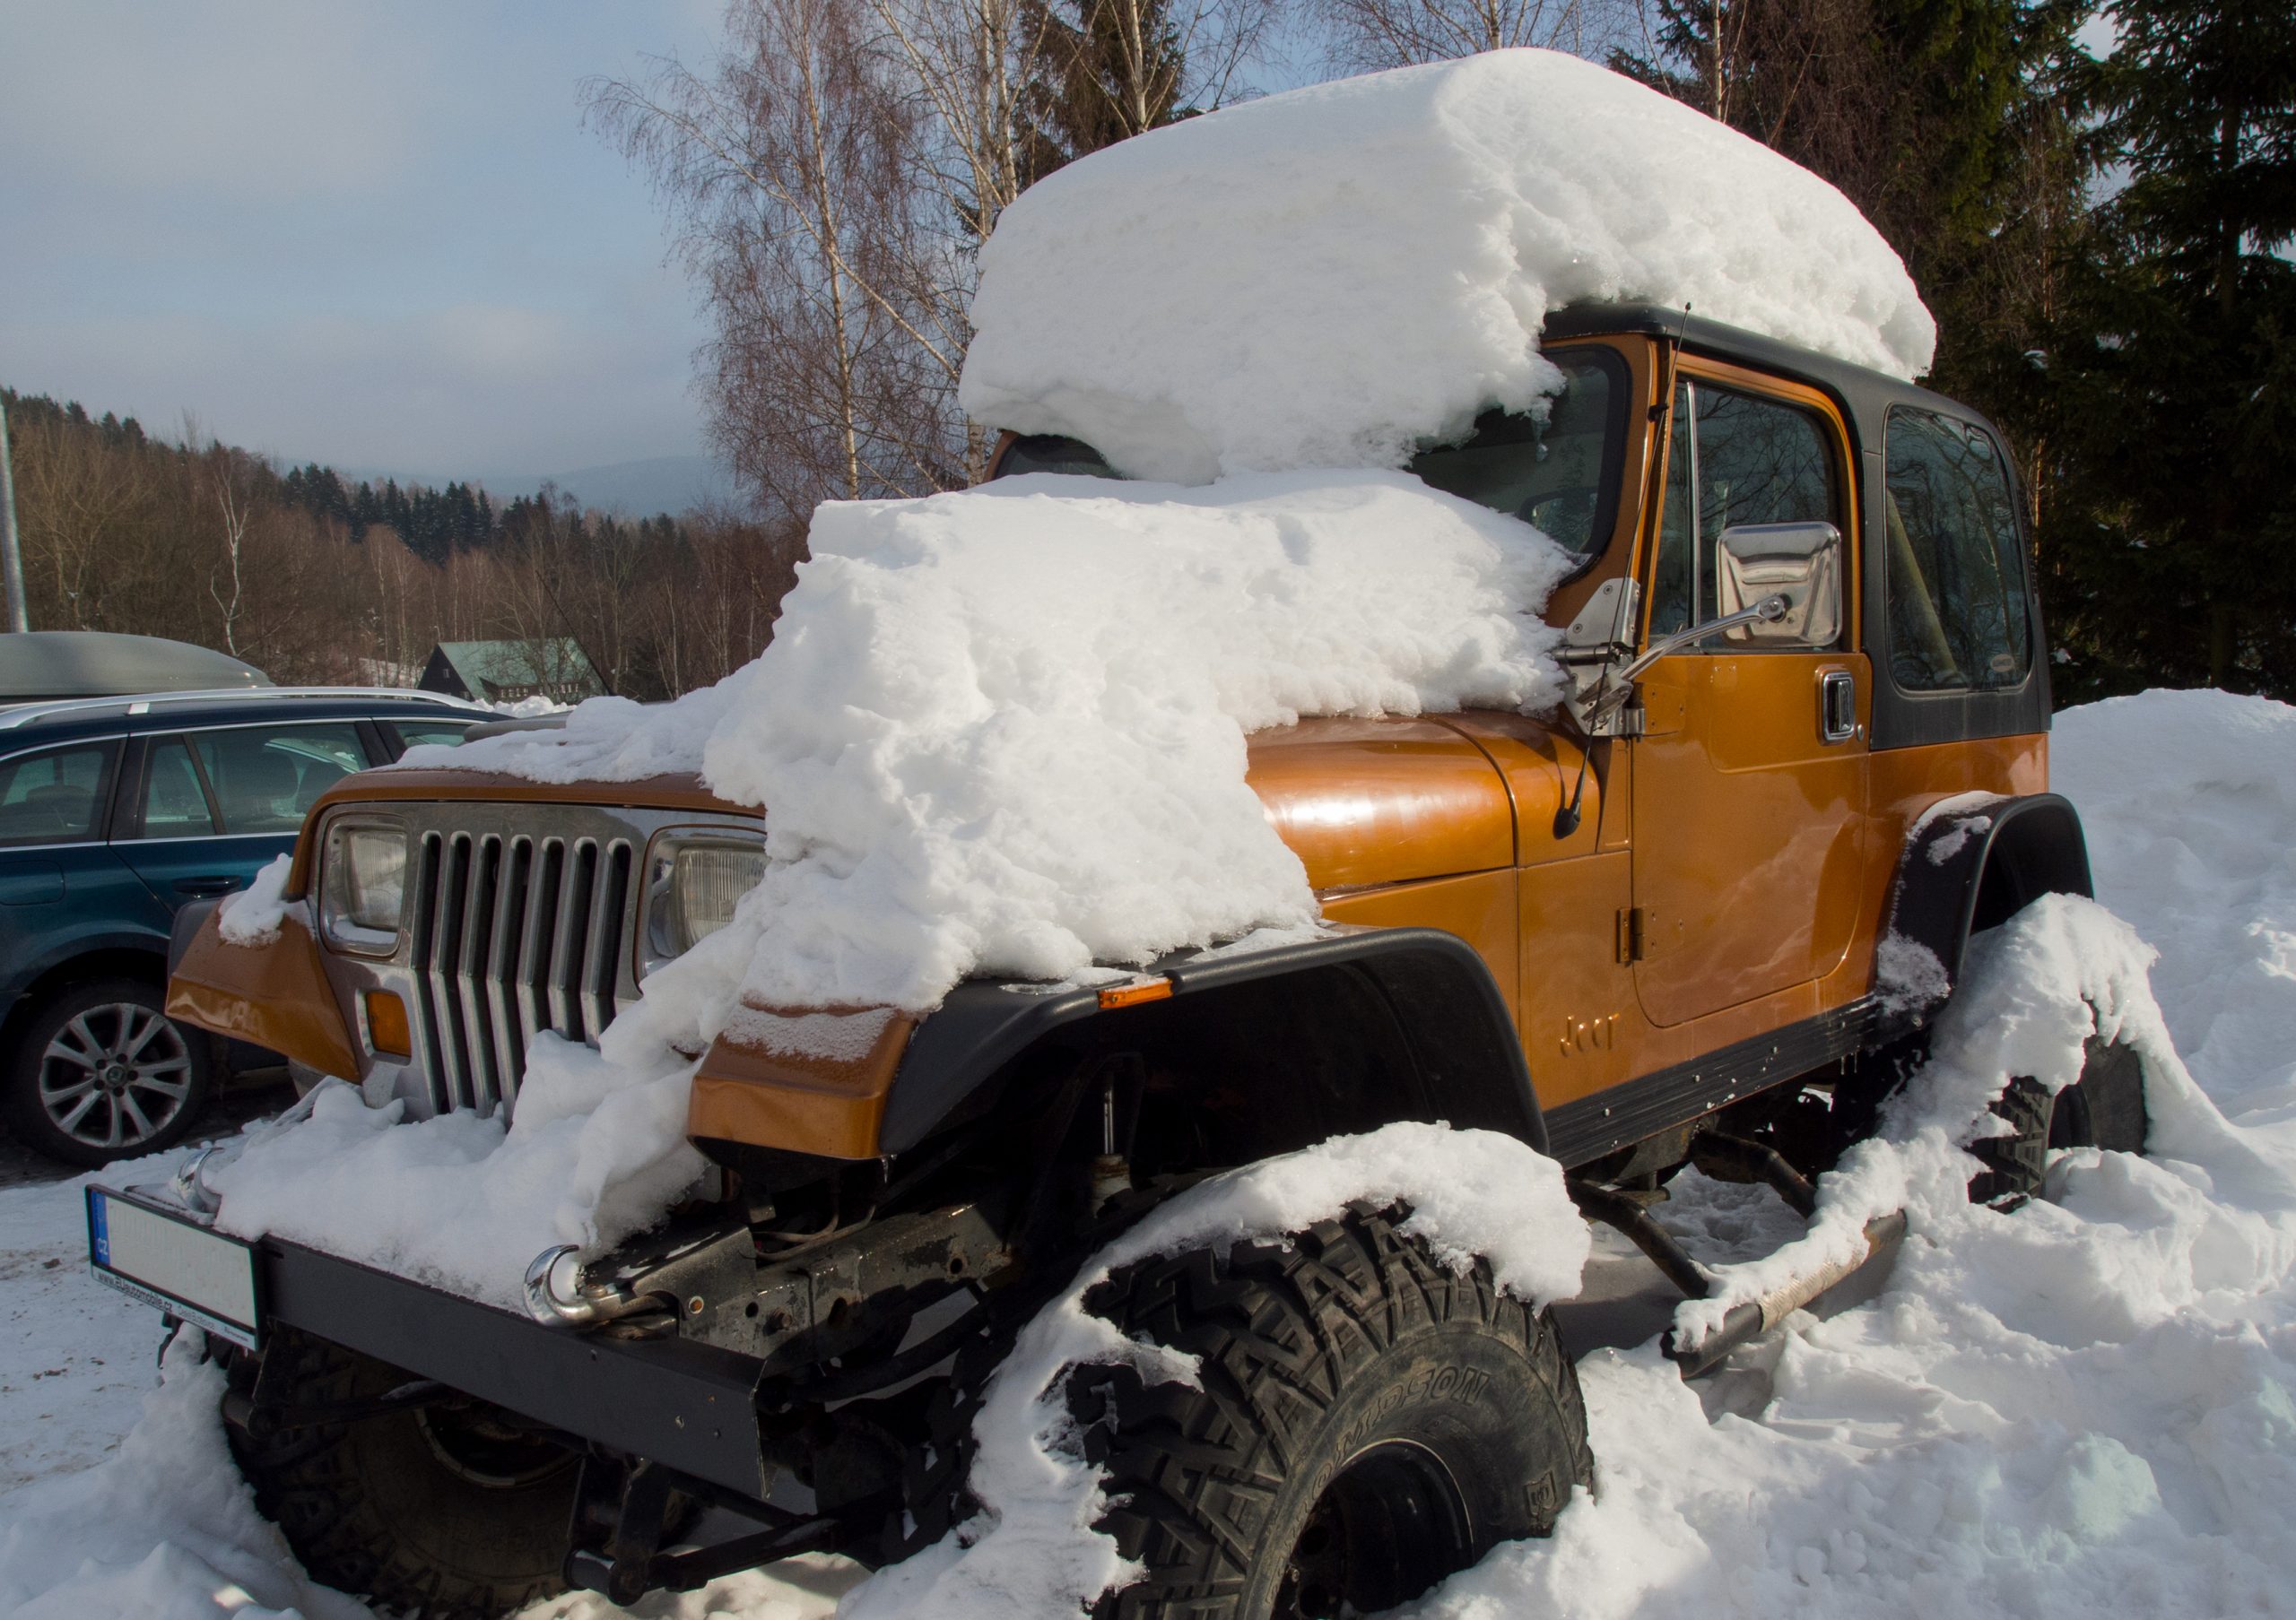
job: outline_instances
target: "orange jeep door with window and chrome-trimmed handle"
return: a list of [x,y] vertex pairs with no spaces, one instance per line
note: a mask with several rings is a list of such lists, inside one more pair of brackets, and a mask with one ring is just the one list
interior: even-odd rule
[[[1830,523],[1841,544],[1823,585],[1832,599],[1800,633],[1727,631],[1658,661],[1644,682],[1644,734],[1630,743],[1630,955],[1655,1026],[1809,984],[1848,950],[1867,792],[1851,496],[1848,438],[1823,395],[1683,358],[1646,645],[1759,594],[1724,555],[1727,530]],[[1743,555],[1747,539],[1731,551]]]

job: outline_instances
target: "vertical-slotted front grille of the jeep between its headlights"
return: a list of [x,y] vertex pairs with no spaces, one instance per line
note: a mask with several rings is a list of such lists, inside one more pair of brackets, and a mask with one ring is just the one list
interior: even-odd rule
[[597,1042],[627,943],[629,838],[427,831],[409,966],[432,1106],[507,1108],[542,1030]]

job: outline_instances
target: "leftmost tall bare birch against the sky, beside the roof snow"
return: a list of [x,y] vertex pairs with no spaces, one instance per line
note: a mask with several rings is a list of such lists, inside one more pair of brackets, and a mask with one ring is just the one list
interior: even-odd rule
[[712,307],[716,445],[781,512],[962,477],[962,335],[909,218],[909,110],[863,23],[861,0],[732,0],[707,76],[664,62],[585,87]]

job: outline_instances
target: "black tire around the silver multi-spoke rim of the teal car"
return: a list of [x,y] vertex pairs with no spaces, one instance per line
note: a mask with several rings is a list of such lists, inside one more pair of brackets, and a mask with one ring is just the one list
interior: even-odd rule
[[[46,998],[46,1005],[32,1010],[23,1028],[16,1035],[14,1046],[0,1056],[0,1117],[7,1120],[9,1131],[25,1147],[46,1154],[48,1159],[60,1159],[76,1166],[106,1166],[117,1159],[138,1159],[142,1154],[156,1154],[163,1147],[174,1147],[191,1131],[197,1115],[207,1108],[207,1097],[214,1088],[214,1062],[209,1051],[209,1039],[200,1030],[186,1030],[184,1026],[165,1019],[163,1014],[165,996],[158,984],[135,978],[108,978],[90,980],[85,984],[73,984],[71,989],[57,991]],[[115,1145],[103,1145],[94,1140],[83,1140],[67,1131],[55,1117],[51,1117],[48,1106],[41,1097],[44,1074],[51,1083],[62,1083],[71,1074],[51,1062],[51,1044],[62,1042],[69,1046],[85,1046],[83,1039],[71,1037],[73,1019],[87,1019],[96,1037],[96,1044],[110,1042],[117,1023],[119,1010],[135,1010],[138,1019],[158,1019],[156,1039],[168,1042],[168,1051],[158,1053],[154,1046],[138,1051],[138,1060],[124,1067],[138,1069],[142,1060],[154,1053],[165,1056],[174,1067],[156,1078],[163,1078],[170,1088],[181,1085],[181,1097],[172,1099],[172,1113],[165,1120],[152,1115],[158,1113],[161,1099],[154,1092],[126,1090],[135,1099],[135,1106],[145,1111],[147,1120],[158,1129],[138,1131],[133,1127],[133,1115],[124,1113],[110,1095],[94,1101],[94,1115],[113,1120],[122,1127],[122,1140]],[[99,1088],[101,1090],[101,1088]]]

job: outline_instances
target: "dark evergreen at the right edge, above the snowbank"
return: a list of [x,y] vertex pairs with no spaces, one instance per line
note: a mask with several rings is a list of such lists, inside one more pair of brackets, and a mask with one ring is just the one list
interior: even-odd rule
[[2119,0],[2094,73],[2128,184],[2050,344],[2043,532],[2071,695],[2296,693],[2296,11]]

